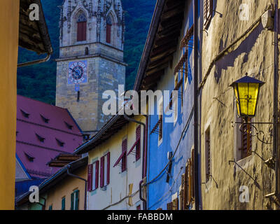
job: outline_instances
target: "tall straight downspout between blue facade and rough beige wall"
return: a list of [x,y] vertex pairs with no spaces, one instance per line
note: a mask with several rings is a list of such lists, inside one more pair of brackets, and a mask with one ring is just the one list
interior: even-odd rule
[[194,153],[195,153],[195,210],[200,210],[199,164],[198,164],[198,1],[193,1],[194,20]]

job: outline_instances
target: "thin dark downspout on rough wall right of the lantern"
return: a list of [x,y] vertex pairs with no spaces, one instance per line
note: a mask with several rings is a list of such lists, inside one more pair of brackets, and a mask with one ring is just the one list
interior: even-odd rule
[[279,152],[278,152],[278,81],[279,81],[279,50],[278,50],[278,0],[275,0],[274,15],[274,109],[273,109],[273,153],[275,162],[275,195],[279,196]]

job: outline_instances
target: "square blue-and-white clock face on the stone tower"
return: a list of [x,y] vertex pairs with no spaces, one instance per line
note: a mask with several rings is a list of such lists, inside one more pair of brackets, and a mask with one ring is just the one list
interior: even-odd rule
[[69,62],[68,84],[87,83],[87,61]]

